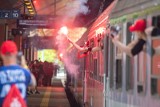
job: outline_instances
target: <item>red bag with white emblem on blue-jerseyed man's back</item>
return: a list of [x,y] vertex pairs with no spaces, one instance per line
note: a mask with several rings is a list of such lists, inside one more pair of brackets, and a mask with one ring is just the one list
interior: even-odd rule
[[16,85],[12,85],[10,91],[3,101],[2,107],[27,107]]

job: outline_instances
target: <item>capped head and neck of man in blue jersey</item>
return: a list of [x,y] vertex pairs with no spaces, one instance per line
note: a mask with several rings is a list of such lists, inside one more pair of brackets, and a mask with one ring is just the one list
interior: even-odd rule
[[0,54],[4,64],[7,63],[16,63],[16,56],[18,53],[17,46],[13,41],[5,41],[2,43],[0,48]]

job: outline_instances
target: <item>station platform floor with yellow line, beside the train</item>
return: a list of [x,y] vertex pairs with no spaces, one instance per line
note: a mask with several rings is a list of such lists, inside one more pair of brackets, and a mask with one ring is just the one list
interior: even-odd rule
[[52,80],[52,87],[39,87],[40,94],[27,96],[28,107],[70,107],[61,79]]

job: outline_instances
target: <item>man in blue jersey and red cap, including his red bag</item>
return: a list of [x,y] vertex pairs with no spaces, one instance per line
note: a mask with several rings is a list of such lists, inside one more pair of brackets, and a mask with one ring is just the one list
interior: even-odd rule
[[2,43],[0,55],[3,66],[0,67],[0,73],[3,75],[0,75],[0,78],[3,78],[3,81],[0,81],[0,107],[27,107],[26,88],[36,85],[30,71],[17,64],[17,53],[15,42]]

